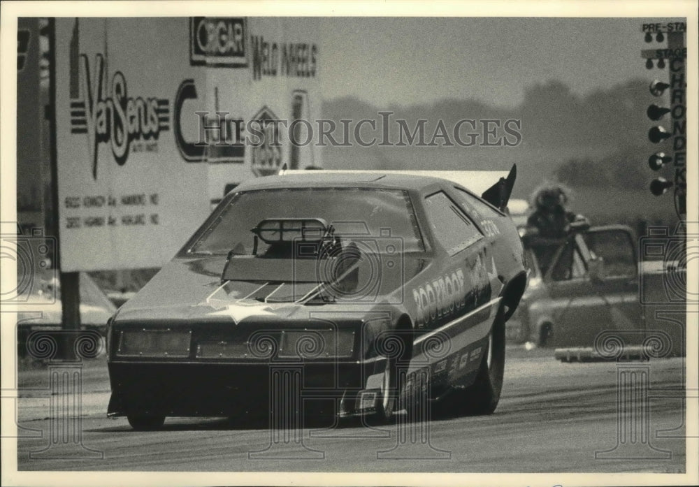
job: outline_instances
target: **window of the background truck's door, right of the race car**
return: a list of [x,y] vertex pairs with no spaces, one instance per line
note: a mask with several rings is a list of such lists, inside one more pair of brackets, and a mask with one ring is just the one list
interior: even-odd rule
[[585,234],[585,243],[593,256],[601,257],[608,277],[633,277],[637,263],[633,242],[625,231],[607,230]]

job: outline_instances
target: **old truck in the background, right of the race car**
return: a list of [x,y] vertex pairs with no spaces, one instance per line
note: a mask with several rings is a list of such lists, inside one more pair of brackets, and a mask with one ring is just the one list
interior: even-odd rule
[[630,347],[662,335],[668,354],[682,354],[682,326],[656,316],[658,310],[671,309],[662,296],[666,275],[658,266],[639,262],[638,240],[628,226],[573,231],[549,247],[552,259],[546,270],[540,268],[535,245],[527,241],[529,283],[507,323],[508,340],[576,349],[576,354],[583,347],[589,356],[599,355],[605,339]]

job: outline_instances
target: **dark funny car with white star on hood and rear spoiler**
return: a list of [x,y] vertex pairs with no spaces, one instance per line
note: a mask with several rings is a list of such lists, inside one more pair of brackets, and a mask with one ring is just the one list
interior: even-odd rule
[[390,171],[240,184],[110,319],[108,414],[493,412],[526,286],[515,168],[456,176],[488,189]]

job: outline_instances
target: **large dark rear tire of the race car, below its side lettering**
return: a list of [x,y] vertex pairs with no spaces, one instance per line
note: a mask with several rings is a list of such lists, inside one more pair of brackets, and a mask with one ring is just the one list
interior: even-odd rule
[[463,411],[466,414],[493,414],[503,390],[504,372],[505,320],[500,309],[488,335],[487,349],[481,358],[476,379],[464,391]]

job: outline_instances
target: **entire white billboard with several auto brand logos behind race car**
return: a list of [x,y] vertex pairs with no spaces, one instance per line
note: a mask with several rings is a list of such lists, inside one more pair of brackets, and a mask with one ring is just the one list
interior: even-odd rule
[[319,115],[315,22],[57,19],[62,270],[161,266],[226,188],[319,165],[278,124]]

